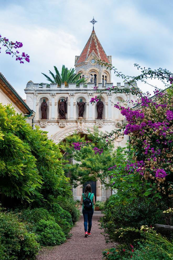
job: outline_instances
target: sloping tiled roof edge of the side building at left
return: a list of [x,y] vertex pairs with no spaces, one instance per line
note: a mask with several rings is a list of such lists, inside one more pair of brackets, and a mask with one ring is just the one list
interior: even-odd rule
[[29,108],[26,102],[21,98],[21,96],[16,92],[14,87],[8,82],[8,80],[4,77],[4,75],[0,72],[0,88],[6,95],[15,103],[17,107],[24,114],[32,114],[33,110]]

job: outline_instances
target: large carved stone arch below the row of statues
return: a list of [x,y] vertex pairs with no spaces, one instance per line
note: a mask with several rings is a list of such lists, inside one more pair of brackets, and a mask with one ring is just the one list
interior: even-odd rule
[[[94,127],[90,127],[90,126],[85,126],[84,131],[82,132],[82,134],[88,134],[88,130],[89,129],[91,131],[91,133],[94,133]],[[52,141],[55,142],[56,144],[60,143],[61,141],[63,141],[66,137],[71,136],[72,134],[76,134],[79,133],[78,132],[78,127],[77,126],[71,126],[68,127],[58,133],[56,133],[53,137],[52,137]],[[99,131],[99,133],[101,133]]]

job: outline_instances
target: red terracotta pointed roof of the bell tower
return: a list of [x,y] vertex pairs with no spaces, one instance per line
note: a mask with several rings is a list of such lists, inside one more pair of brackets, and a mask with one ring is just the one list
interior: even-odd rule
[[107,63],[110,63],[94,30],[92,31],[91,36],[90,36],[89,40],[87,41],[87,44],[85,45],[82,53],[80,54],[79,59],[77,60],[76,64],[86,61],[92,51],[95,52],[95,54],[99,57],[99,59],[104,60]]

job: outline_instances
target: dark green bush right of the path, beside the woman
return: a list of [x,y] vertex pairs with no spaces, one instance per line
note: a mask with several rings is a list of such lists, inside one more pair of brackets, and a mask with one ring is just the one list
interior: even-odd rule
[[[165,224],[163,219],[163,209],[165,205],[160,203],[156,206],[151,201],[136,199],[129,204],[114,204],[116,195],[112,195],[105,203],[105,210],[100,219],[100,225],[104,228],[106,240],[115,242],[130,241],[138,237],[138,234],[133,231],[127,231],[126,236],[119,238],[115,233],[117,228],[135,227],[140,228],[142,225],[154,225],[156,223]],[[162,209],[162,210],[161,210]]]

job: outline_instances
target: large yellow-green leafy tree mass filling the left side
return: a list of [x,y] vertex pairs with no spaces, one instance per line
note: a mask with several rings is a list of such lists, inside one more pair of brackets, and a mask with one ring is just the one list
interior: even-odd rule
[[38,127],[33,130],[10,106],[0,105],[0,126],[2,198],[39,204],[50,194],[72,196],[62,168],[61,146],[49,140],[46,132]]

